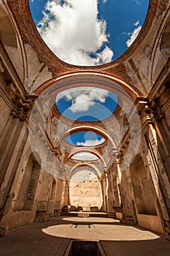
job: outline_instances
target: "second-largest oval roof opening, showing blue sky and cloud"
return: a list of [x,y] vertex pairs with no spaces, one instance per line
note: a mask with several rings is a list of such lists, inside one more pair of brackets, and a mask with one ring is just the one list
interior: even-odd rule
[[117,95],[97,87],[77,87],[56,96],[56,108],[71,120],[97,121],[108,118],[117,108]]

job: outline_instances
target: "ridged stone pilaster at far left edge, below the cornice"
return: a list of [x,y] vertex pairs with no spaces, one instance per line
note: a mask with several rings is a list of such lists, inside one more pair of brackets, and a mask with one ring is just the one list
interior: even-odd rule
[[9,200],[10,189],[15,178],[15,173],[20,163],[20,156],[23,152],[26,140],[28,138],[28,129],[24,121],[19,118],[9,118],[6,129],[1,136],[0,148],[1,159],[1,200],[0,208],[4,211],[7,200]]

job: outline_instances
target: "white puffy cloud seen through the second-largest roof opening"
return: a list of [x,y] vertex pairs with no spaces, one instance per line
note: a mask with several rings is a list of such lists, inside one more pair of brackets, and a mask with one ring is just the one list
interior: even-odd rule
[[69,110],[72,113],[88,111],[96,102],[104,103],[109,95],[109,91],[96,89],[93,87],[82,87],[81,89],[69,89],[59,93],[56,97],[56,103],[59,99],[65,99],[72,102]]

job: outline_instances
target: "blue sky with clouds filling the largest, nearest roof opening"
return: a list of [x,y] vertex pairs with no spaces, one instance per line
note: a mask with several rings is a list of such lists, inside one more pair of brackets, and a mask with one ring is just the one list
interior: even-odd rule
[[30,0],[39,33],[71,64],[97,65],[117,59],[136,38],[149,0]]

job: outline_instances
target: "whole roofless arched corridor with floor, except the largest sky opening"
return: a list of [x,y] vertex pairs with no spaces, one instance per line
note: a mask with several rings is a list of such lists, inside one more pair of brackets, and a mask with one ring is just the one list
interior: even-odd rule
[[168,256],[169,1],[98,66],[55,56],[33,2],[0,1],[0,254]]

